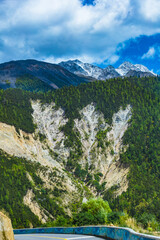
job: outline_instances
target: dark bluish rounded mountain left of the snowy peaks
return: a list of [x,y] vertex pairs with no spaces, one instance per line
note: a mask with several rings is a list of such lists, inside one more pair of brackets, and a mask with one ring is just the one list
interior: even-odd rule
[[91,81],[63,67],[36,60],[19,60],[0,64],[0,87],[47,91]]

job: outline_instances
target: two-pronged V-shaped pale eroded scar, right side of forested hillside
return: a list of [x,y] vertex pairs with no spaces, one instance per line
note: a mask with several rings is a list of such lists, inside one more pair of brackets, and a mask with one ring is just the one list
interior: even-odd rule
[[[131,118],[131,107],[120,109],[113,115],[112,125],[106,123],[102,113],[95,110],[91,104],[82,109],[81,120],[75,120],[75,128],[81,135],[84,155],[81,164],[86,161],[92,165],[92,172],[103,173],[101,182],[106,182],[106,188],[118,185],[117,195],[127,190],[127,174],[129,169],[120,165],[119,158],[123,146],[122,137],[128,128]],[[103,137],[101,137],[103,136]]]

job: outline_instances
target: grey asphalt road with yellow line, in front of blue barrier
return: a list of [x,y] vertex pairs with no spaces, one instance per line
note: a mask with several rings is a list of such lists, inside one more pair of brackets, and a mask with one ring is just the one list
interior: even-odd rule
[[15,240],[102,240],[102,238],[73,234],[18,234]]

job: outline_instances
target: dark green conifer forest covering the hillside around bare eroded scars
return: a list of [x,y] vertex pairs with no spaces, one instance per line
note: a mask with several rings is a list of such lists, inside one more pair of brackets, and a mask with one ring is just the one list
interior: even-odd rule
[[[81,84],[78,87],[65,87],[45,93],[31,93],[20,89],[1,90],[0,122],[14,125],[17,131],[22,129],[27,133],[34,133],[37,126],[32,118],[31,99],[40,99],[44,106],[46,103],[54,102],[57,109],[61,107],[65,111],[65,117],[68,121],[59,130],[66,137],[65,147],[72,148],[67,162],[63,163],[63,167],[68,174],[71,173],[77,181],[84,182],[91,191],[94,189],[95,195],[100,195],[109,202],[112,211],[126,211],[138,222],[143,223],[144,227],[147,227],[147,223],[151,221],[160,222],[159,78],[117,78],[106,82],[96,81]],[[95,172],[93,176],[91,174],[93,173],[92,166],[84,168],[79,164],[83,156],[83,150],[80,135],[74,129],[74,119],[80,119],[80,110],[91,103],[94,103],[97,111],[104,114],[105,121],[108,124],[112,124],[112,116],[118,112],[120,107],[125,109],[126,106],[130,105],[132,109],[129,127],[123,137],[123,145],[127,146],[127,149],[121,152],[119,159],[123,168],[129,167],[127,178],[129,185],[127,191],[119,196],[115,194],[119,185],[106,189],[105,183],[101,182],[101,173]],[[105,135],[106,132],[101,129],[96,136],[98,147],[102,150],[107,147],[107,144],[110,144],[103,144]],[[42,140],[43,137],[41,136]],[[112,152],[112,154],[115,153]],[[56,154],[52,153],[52,156],[59,161]],[[33,187],[24,177],[26,171],[30,173],[36,185],[41,188],[41,180],[34,174],[34,169],[37,166],[34,165],[33,168],[31,167],[32,164],[25,159],[11,158],[5,153],[0,155],[1,183],[3,182],[0,188],[0,206],[9,212],[14,227],[28,226],[30,219],[34,219],[35,226],[40,224],[34,214],[24,206],[18,217],[14,213],[14,211],[17,212],[18,208],[21,208],[24,192]],[[14,185],[14,191],[11,188],[12,185]],[[35,194],[38,196],[38,193]],[[41,189],[41,196],[43,194],[44,191]],[[60,199],[60,192],[52,192],[55,197],[57,197],[57,194]],[[17,196],[19,196],[19,201],[17,201]],[[37,198],[39,199],[39,197]],[[51,212],[55,218],[57,216],[66,217],[66,212],[60,207],[56,207],[58,212],[53,211],[56,205],[55,201],[49,199],[47,201],[50,203]],[[76,209],[72,209],[73,212],[77,210],[79,210],[79,205]],[[71,214],[70,218],[72,218]],[[26,223],[27,221],[28,223]],[[70,222],[72,221],[70,220]],[[158,228],[158,224],[156,227]]]

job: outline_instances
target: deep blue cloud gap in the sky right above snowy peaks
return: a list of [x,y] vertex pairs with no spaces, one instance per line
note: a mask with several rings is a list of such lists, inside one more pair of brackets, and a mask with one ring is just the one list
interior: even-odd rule
[[160,74],[160,34],[142,35],[120,43],[116,54],[120,56],[115,63],[116,67],[125,60],[134,64],[143,64]]

